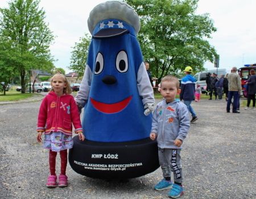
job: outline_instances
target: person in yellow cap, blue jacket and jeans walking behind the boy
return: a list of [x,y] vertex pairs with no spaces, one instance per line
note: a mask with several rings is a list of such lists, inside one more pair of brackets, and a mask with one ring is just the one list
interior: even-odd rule
[[184,70],[186,76],[181,79],[180,101],[184,100],[185,105],[188,107],[188,111],[192,115],[191,122],[195,122],[198,117],[196,116],[196,112],[192,108],[191,103],[195,100],[196,78],[191,75],[192,71],[193,69],[191,67],[186,67]]

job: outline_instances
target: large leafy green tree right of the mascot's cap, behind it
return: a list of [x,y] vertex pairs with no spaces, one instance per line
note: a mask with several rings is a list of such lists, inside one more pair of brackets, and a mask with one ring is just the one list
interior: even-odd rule
[[138,34],[144,60],[159,80],[188,65],[195,71],[212,61],[215,49],[207,39],[216,31],[208,14],[196,15],[198,0],[127,0],[141,19]]

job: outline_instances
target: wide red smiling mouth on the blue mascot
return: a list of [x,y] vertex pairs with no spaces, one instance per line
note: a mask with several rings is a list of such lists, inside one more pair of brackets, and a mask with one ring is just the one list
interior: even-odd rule
[[133,98],[133,96],[129,96],[126,99],[123,99],[123,101],[117,103],[102,103],[90,98],[90,102],[92,102],[95,109],[101,111],[102,113],[117,113],[125,109],[128,103],[131,101],[131,98]]

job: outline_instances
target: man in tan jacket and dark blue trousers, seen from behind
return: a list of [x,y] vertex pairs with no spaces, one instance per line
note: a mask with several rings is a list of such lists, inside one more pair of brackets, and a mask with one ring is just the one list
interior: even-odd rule
[[233,107],[232,107],[232,113],[240,113],[238,111],[239,106],[239,97],[241,93],[241,80],[240,76],[237,74],[237,67],[233,67],[231,70],[231,73],[228,75],[228,81],[229,81],[229,94],[228,94],[228,103],[226,105],[226,112],[230,113],[230,105],[233,99]]

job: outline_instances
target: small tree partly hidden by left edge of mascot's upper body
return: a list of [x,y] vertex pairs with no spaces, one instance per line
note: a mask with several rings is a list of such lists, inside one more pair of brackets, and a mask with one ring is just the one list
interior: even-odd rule
[[71,63],[68,68],[78,74],[77,78],[84,75],[90,40],[91,37],[88,34],[85,34],[84,37],[79,39],[78,43],[75,43],[73,51],[71,52]]

